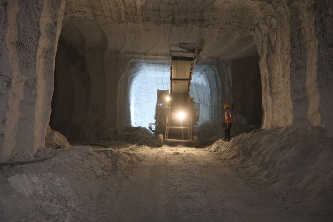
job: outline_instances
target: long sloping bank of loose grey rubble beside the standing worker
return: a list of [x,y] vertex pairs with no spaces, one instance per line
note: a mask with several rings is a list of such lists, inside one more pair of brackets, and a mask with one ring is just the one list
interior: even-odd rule
[[[265,190],[280,207],[326,216],[333,208],[333,140],[320,127],[279,127],[221,139],[206,152],[230,163],[256,190]],[[259,185],[258,186],[258,181]]]

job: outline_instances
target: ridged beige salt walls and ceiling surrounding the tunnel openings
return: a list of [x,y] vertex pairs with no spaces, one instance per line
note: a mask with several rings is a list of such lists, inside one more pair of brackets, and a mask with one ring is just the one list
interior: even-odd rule
[[[28,0],[3,0],[0,158],[8,159],[15,149],[33,154],[44,146],[54,66],[59,66],[56,75],[62,69],[61,64],[55,64],[60,33],[64,43],[59,55],[70,56],[69,48],[77,49],[85,61],[80,72],[89,77],[90,91],[84,93],[83,104],[76,105],[78,94],[65,100],[75,100],[70,107],[79,115],[67,114],[64,118],[72,125],[82,124],[84,130],[126,122],[125,116],[117,114],[126,112],[120,106],[126,98],[119,93],[127,95],[118,83],[122,84],[119,80],[129,72],[131,60],[167,58],[168,44],[190,42],[200,36],[206,40],[202,61],[259,55],[263,128],[313,125],[333,136],[332,4],[330,0],[182,4],[131,0],[36,0],[32,4]],[[59,60],[70,70],[79,67],[71,64],[70,58]],[[68,72],[66,67],[64,73]],[[73,84],[75,76],[71,77],[76,88],[68,92],[82,92],[84,81]],[[65,77],[60,74],[59,78]],[[61,88],[57,86],[56,103],[65,103],[58,100]],[[62,111],[58,109],[56,106],[52,117],[60,118],[56,113]]]

